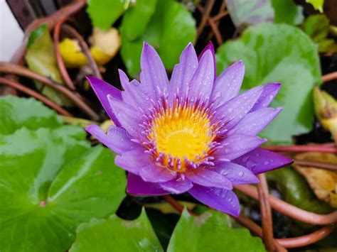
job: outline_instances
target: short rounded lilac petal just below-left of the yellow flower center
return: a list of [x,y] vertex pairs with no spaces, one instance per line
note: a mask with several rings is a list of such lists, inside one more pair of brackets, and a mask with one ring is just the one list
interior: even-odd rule
[[151,163],[141,168],[139,175],[146,182],[166,182],[176,178],[176,172]]

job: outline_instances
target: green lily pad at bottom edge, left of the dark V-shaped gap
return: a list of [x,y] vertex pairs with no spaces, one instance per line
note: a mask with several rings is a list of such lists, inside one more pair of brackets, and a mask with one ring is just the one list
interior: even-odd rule
[[163,251],[163,248],[143,209],[134,221],[112,215],[81,224],[70,252],[85,251]]

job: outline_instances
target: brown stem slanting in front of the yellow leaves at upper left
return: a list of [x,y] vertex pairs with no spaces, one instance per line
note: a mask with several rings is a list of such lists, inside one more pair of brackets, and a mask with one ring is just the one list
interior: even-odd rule
[[80,43],[80,47],[85,56],[87,57],[87,61],[89,62],[90,67],[92,68],[92,75],[94,75],[99,79],[102,79],[100,69],[98,68],[94,58],[92,57],[90,49],[87,46],[87,43],[85,43],[85,40],[82,38],[82,35],[80,35],[80,33],[77,33],[77,31],[73,27],[68,26],[67,24],[64,24],[62,26],[62,29],[64,29],[64,31],[68,33],[70,36],[78,40],[78,43]]

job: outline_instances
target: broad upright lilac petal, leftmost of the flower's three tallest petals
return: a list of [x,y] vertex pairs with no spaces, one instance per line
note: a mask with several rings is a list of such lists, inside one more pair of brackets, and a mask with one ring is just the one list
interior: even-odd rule
[[155,101],[159,99],[159,90],[166,93],[169,86],[169,79],[167,78],[166,70],[161,62],[161,58],[154,48],[148,43],[144,43],[141,52],[141,84],[148,85],[147,94]]

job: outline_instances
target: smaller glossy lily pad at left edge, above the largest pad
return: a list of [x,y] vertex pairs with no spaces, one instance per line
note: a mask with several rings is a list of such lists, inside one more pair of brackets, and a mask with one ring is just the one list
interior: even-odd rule
[[56,128],[62,121],[56,112],[33,98],[0,97],[0,135],[14,133],[18,128],[36,130]]

